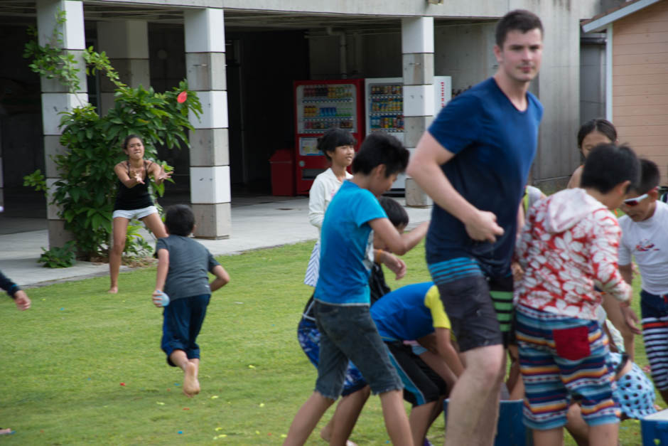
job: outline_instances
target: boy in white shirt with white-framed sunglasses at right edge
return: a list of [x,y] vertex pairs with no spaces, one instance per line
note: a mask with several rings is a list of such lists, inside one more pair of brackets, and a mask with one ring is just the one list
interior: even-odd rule
[[[640,184],[631,189],[619,219],[622,240],[619,247],[619,270],[631,283],[631,257],[642,277],[640,311],[642,338],[652,368],[654,386],[668,403],[668,204],[659,201],[659,168],[648,159],[640,160]],[[640,334],[632,309],[623,309],[627,324]]]

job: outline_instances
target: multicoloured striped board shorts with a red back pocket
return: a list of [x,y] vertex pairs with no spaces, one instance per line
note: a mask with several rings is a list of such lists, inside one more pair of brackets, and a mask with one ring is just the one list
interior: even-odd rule
[[566,425],[569,403],[581,403],[590,426],[619,423],[608,368],[608,338],[597,321],[517,306],[519,367],[525,387],[524,425],[537,430]]

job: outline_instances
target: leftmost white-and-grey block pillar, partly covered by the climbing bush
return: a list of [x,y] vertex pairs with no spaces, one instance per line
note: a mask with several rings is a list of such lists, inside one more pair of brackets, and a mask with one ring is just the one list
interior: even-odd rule
[[[65,11],[65,23],[58,25],[56,15],[58,11]],[[41,78],[42,90],[42,127],[44,133],[44,156],[46,161],[46,186],[51,191],[53,184],[59,180],[53,157],[63,154],[65,149],[60,145],[59,112],[70,111],[75,107],[88,102],[83,64],[83,50],[85,49],[83,2],[74,0],[38,0],[37,1],[37,29],[40,45],[52,42],[53,29],[58,26],[63,33],[63,49],[75,55],[79,63],[80,89],[69,92],[68,87],[55,79]],[[50,202],[50,196],[48,197]],[[58,207],[47,205],[49,248],[63,246],[74,237],[65,231],[65,221],[58,217]]]

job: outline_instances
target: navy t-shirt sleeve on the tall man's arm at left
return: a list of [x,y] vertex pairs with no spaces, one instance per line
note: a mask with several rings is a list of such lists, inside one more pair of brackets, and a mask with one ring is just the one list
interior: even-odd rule
[[476,95],[462,94],[448,102],[429,126],[429,133],[449,152],[458,154],[478,141],[482,104]]

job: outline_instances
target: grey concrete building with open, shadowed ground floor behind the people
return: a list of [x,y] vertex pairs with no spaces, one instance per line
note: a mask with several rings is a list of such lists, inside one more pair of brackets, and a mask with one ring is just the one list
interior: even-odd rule
[[[406,147],[433,118],[433,75],[452,78],[464,90],[496,70],[492,53],[495,22],[512,9],[542,18],[544,55],[532,92],[545,113],[532,181],[558,189],[579,163],[575,135],[580,124],[580,23],[622,1],[562,0],[38,0],[0,3],[6,42],[0,68],[5,92],[21,91],[23,108],[0,111],[5,200],[23,175],[43,169],[48,184],[58,179],[54,154],[58,111],[80,98],[109,107],[113,91],[91,79],[72,95],[41,80],[21,58],[26,28],[37,26],[41,42],[53,31],[55,11],[65,11],[65,48],[75,55],[90,45],[106,51],[131,86],[171,89],[187,78],[204,113],[190,150],[161,149],[176,166],[177,188],[189,193],[205,238],[232,234],[231,203],[240,193],[264,193],[269,157],[293,148],[294,80],[403,77],[410,95]],[[18,48],[18,50],[11,48]],[[433,91],[433,90],[431,90]],[[8,100],[9,97],[9,100]],[[11,94],[0,99],[10,105]],[[42,129],[41,134],[34,131]],[[110,148],[115,149],[115,148]],[[120,150],[120,148],[117,148]],[[20,154],[20,155],[19,155]],[[408,187],[408,186],[406,186]],[[169,193],[169,192],[168,192]],[[50,245],[67,238],[58,210],[49,208]]]

